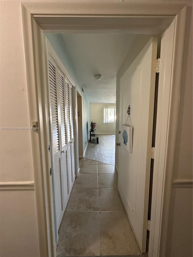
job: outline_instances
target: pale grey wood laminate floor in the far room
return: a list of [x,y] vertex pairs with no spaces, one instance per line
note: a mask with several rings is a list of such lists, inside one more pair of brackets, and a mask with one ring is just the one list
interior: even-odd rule
[[99,144],[88,142],[84,158],[115,165],[115,137],[99,134]]

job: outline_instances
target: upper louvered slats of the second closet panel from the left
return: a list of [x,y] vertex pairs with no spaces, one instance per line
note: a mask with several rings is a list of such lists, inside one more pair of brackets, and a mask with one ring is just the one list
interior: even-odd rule
[[66,145],[64,75],[58,71],[62,147]]

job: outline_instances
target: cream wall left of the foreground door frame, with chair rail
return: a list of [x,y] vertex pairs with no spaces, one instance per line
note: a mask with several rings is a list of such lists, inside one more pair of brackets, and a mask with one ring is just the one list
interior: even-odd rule
[[[0,10],[0,127],[30,127],[21,2],[1,1]],[[30,133],[0,130],[1,182],[34,180]],[[40,256],[34,187],[0,188],[0,256]]]

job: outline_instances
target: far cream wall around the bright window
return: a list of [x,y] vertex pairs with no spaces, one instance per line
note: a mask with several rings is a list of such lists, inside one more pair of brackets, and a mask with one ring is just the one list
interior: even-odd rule
[[96,123],[97,133],[115,134],[115,123],[104,123],[104,107],[116,107],[116,104],[90,104],[90,124]]

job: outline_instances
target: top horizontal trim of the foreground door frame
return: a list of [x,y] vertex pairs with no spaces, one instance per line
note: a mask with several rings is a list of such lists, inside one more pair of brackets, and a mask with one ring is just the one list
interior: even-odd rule
[[[79,16],[79,15],[100,15],[106,17],[107,15],[111,16],[139,16],[141,15],[149,15],[149,16],[175,16],[185,4],[188,4],[189,1],[171,1],[169,3],[162,3],[162,1],[53,1],[43,3],[41,1],[36,1],[36,3],[31,1],[23,2],[23,5],[30,11],[30,13],[35,14],[36,16],[46,16],[46,17],[54,17],[71,15]],[[68,3],[66,3],[68,2]],[[178,4],[176,4],[176,2]],[[57,3],[57,4],[56,4]],[[165,7],[165,8],[164,8]],[[164,9],[163,9],[164,8]],[[48,11],[49,10],[49,11]],[[57,22],[53,22],[52,24],[57,24]],[[52,27],[52,26],[49,26]],[[102,26],[103,27],[103,26]],[[87,28],[88,29],[88,28]],[[97,27],[97,29],[100,29]]]

